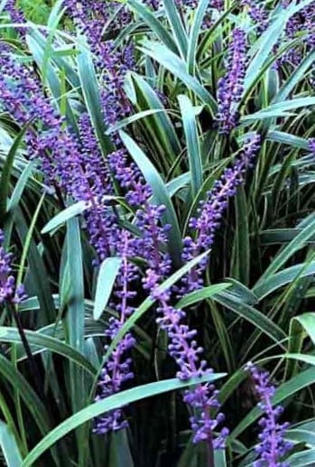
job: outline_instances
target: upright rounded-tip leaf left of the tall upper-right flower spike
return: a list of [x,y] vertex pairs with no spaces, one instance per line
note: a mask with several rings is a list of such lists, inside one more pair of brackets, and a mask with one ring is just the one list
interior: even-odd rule
[[192,107],[190,98],[179,96],[181,108],[181,119],[184,127],[187,153],[190,161],[191,194],[195,198],[202,185],[202,161],[199,148],[199,136],[195,120],[195,110]]

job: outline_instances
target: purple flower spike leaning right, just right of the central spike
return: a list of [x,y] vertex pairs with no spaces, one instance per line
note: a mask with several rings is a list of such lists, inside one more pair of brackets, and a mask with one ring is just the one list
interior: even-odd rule
[[[244,182],[246,170],[251,167],[259,146],[260,136],[250,136],[237,155],[233,167],[227,168],[221,178],[215,182],[212,190],[207,193],[207,200],[200,201],[197,217],[192,217],[189,223],[195,236],[187,236],[183,239],[182,259],[184,261],[190,261],[211,248],[215,233],[227,208],[228,199],[236,194],[237,186]],[[205,266],[207,266],[207,259],[201,261],[199,266],[194,267],[190,274],[182,279],[180,294],[186,294],[203,285],[202,274]]]

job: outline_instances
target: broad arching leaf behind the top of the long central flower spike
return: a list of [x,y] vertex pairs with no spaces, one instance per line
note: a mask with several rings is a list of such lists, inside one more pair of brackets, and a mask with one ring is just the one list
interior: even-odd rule
[[157,205],[162,204],[166,207],[165,213],[162,216],[162,222],[163,224],[171,225],[171,229],[168,232],[169,249],[173,264],[178,267],[181,265],[181,232],[175,210],[165,184],[162,182],[161,175],[157,172],[153,163],[146,157],[142,149],[134,143],[134,140],[130,136],[126,135],[122,131],[119,135],[126,149],[133,157],[134,162],[144,174],[144,179],[150,184],[153,190],[154,202]]

